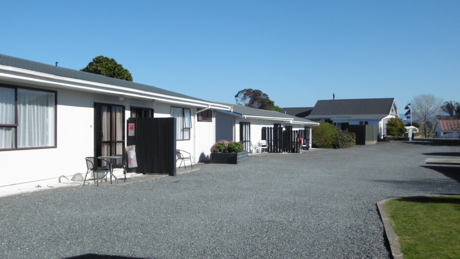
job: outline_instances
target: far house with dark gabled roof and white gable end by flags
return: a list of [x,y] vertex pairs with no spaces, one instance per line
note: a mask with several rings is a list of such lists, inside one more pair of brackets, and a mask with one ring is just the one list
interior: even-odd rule
[[399,115],[394,98],[335,99],[318,101],[305,118],[329,122],[343,130],[348,125],[378,125],[381,139],[386,134],[388,120]]

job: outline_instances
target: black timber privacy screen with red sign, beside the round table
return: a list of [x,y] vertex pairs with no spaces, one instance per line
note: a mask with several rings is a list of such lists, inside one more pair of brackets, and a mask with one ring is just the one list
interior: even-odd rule
[[138,164],[129,172],[176,175],[176,118],[129,118],[127,129]]

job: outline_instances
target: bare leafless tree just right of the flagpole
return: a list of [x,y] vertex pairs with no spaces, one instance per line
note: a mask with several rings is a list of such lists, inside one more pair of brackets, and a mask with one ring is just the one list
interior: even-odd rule
[[414,97],[412,114],[420,120],[425,137],[435,130],[435,118],[441,111],[441,101],[432,94],[421,94]]

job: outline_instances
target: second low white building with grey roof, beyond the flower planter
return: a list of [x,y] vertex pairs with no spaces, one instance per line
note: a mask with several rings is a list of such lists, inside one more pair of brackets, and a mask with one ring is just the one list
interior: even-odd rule
[[231,106],[231,111],[216,110],[216,141],[225,139],[243,142],[245,150],[251,144],[264,139],[263,128],[282,127],[290,130],[305,130],[306,143],[311,148],[311,127],[319,123],[272,110],[255,109],[243,105],[220,103]]

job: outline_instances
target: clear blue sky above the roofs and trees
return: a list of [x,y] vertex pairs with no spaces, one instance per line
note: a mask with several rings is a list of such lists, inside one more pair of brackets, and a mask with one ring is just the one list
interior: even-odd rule
[[3,1],[0,53],[81,69],[114,58],[134,81],[279,107],[418,94],[460,102],[460,1]]

